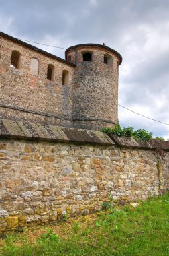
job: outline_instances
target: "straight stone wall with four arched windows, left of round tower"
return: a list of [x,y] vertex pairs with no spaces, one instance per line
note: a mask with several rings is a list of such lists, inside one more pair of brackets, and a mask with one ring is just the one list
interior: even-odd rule
[[[36,47],[34,51],[7,38],[0,37],[0,46],[0,117],[70,127],[74,67],[38,53]],[[21,53],[19,69],[10,67],[13,50]],[[39,61],[38,76],[30,74],[31,58]],[[53,82],[47,79],[48,64],[54,65]],[[62,85],[63,70],[69,72],[68,85]],[[15,109],[5,106],[13,106]],[[30,113],[26,113],[26,110]]]

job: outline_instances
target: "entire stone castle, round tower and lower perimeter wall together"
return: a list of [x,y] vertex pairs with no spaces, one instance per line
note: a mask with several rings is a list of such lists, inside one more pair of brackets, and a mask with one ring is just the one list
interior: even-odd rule
[[121,61],[105,45],[64,60],[0,33],[0,236],[168,191],[168,141],[98,131],[117,124]]

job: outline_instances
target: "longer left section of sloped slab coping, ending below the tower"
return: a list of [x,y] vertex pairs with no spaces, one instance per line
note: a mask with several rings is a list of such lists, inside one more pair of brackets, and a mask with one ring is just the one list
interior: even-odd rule
[[115,142],[113,142],[107,134],[101,133],[100,131],[66,128],[56,125],[44,125],[8,119],[1,119],[0,121],[0,138],[115,145]]

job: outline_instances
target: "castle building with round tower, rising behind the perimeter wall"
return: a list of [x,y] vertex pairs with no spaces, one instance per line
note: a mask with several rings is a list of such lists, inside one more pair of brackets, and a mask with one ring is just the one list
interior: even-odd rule
[[64,60],[2,32],[0,51],[1,118],[94,130],[117,124],[117,51],[78,44]]

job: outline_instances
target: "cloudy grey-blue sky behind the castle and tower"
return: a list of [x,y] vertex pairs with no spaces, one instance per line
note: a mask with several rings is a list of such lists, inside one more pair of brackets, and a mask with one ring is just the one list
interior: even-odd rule
[[[105,44],[123,56],[119,104],[169,124],[168,0],[0,0],[0,29],[16,38],[68,48]],[[33,43],[32,43],[33,44]],[[64,49],[34,44],[64,58]],[[169,138],[169,125],[119,106],[122,127]]]

